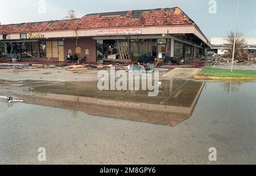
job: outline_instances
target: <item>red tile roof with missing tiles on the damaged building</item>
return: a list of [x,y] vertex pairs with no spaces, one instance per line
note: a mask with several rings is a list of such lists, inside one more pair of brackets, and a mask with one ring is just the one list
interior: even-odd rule
[[153,10],[88,14],[80,19],[74,20],[73,26],[69,20],[0,25],[0,34],[61,31],[71,30],[73,27],[78,29],[92,29],[185,24],[195,23],[182,10],[180,10],[179,7],[174,7]]

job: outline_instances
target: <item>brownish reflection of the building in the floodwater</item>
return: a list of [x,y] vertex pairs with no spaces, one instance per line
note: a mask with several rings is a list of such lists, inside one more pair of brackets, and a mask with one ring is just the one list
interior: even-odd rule
[[156,97],[149,97],[148,91],[99,91],[96,81],[28,86],[30,96],[19,95],[26,104],[175,127],[191,117],[204,83],[162,80]]

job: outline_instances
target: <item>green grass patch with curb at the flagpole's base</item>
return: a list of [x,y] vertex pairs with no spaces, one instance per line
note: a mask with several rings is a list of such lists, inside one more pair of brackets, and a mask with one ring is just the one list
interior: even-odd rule
[[207,75],[214,77],[256,77],[256,70],[233,70],[225,68],[207,67],[199,72],[197,75]]

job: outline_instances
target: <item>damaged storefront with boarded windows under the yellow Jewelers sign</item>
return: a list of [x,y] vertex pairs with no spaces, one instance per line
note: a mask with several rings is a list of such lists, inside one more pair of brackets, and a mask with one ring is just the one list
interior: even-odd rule
[[[94,55],[89,55],[90,49],[96,46],[94,44],[95,41],[92,39],[80,37],[78,40],[79,45],[76,46],[75,38],[60,38],[57,36],[50,38],[47,35],[55,36],[55,33],[48,32],[32,35],[31,33],[24,33],[20,34],[15,40],[10,40],[13,37],[10,35],[9,39],[2,40],[2,44],[5,46],[2,53],[19,55],[22,61],[65,62],[65,57],[68,54],[76,54],[79,58],[86,56],[89,56],[89,59],[95,58]],[[94,45],[90,48],[86,47],[86,45],[90,45],[90,42]],[[95,51],[93,52],[95,53]]]

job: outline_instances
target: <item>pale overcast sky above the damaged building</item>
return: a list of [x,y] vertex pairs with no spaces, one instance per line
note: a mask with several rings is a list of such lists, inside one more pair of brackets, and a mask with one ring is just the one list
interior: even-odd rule
[[[210,37],[225,37],[234,30],[237,0],[215,0],[217,13],[209,13],[210,0],[45,0],[46,13],[42,6],[44,0],[0,0],[1,24],[39,22],[63,19],[68,10],[76,11],[80,18],[96,12],[141,10],[151,8],[180,7],[204,34]],[[213,0],[212,0],[213,1]],[[244,36],[256,37],[256,0],[241,0],[238,31]]]

